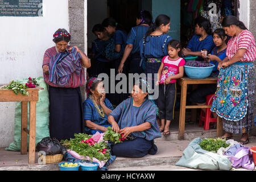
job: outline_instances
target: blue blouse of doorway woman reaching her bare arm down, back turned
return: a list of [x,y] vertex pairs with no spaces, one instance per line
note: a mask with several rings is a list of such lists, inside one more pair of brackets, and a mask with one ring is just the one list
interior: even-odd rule
[[131,31],[129,32],[127,36],[127,44],[133,45],[133,50],[131,51],[131,54],[139,53],[139,43],[145,36],[148,26],[139,25],[136,27],[131,28]]

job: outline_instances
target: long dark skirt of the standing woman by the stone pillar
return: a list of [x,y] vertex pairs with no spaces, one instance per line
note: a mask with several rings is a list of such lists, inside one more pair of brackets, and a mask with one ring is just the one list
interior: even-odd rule
[[49,86],[49,133],[58,140],[74,138],[84,133],[80,87],[57,88]]

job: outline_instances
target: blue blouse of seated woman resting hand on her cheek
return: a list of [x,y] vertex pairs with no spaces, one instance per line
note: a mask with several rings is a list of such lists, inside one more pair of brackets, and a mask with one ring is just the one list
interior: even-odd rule
[[[108,98],[105,98],[104,103],[106,107],[108,107],[111,110],[114,110],[114,107],[112,106]],[[101,106],[98,106],[98,107],[101,109]],[[108,116],[105,114],[105,117],[102,118],[98,113],[96,107],[93,105],[93,101],[90,98],[84,101],[83,109],[84,109],[84,120],[92,121],[97,125],[101,125],[101,126],[109,125]],[[85,131],[89,132],[90,129],[88,127],[85,127]]]

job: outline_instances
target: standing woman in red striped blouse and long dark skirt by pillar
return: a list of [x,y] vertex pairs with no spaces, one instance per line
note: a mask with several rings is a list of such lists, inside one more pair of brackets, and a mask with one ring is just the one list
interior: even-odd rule
[[55,46],[43,58],[44,81],[49,85],[49,133],[58,140],[84,133],[80,86],[85,83],[84,68],[90,60],[79,48],[69,47],[71,35],[59,28],[53,34]]

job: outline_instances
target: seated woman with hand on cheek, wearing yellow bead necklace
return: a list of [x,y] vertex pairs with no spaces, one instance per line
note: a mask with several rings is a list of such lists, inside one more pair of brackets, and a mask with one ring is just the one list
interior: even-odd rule
[[108,115],[114,107],[105,98],[106,93],[103,82],[93,77],[90,78],[86,85],[88,99],[84,101],[84,121],[86,123],[85,133],[95,134],[104,133],[106,127],[111,126],[108,122]]

